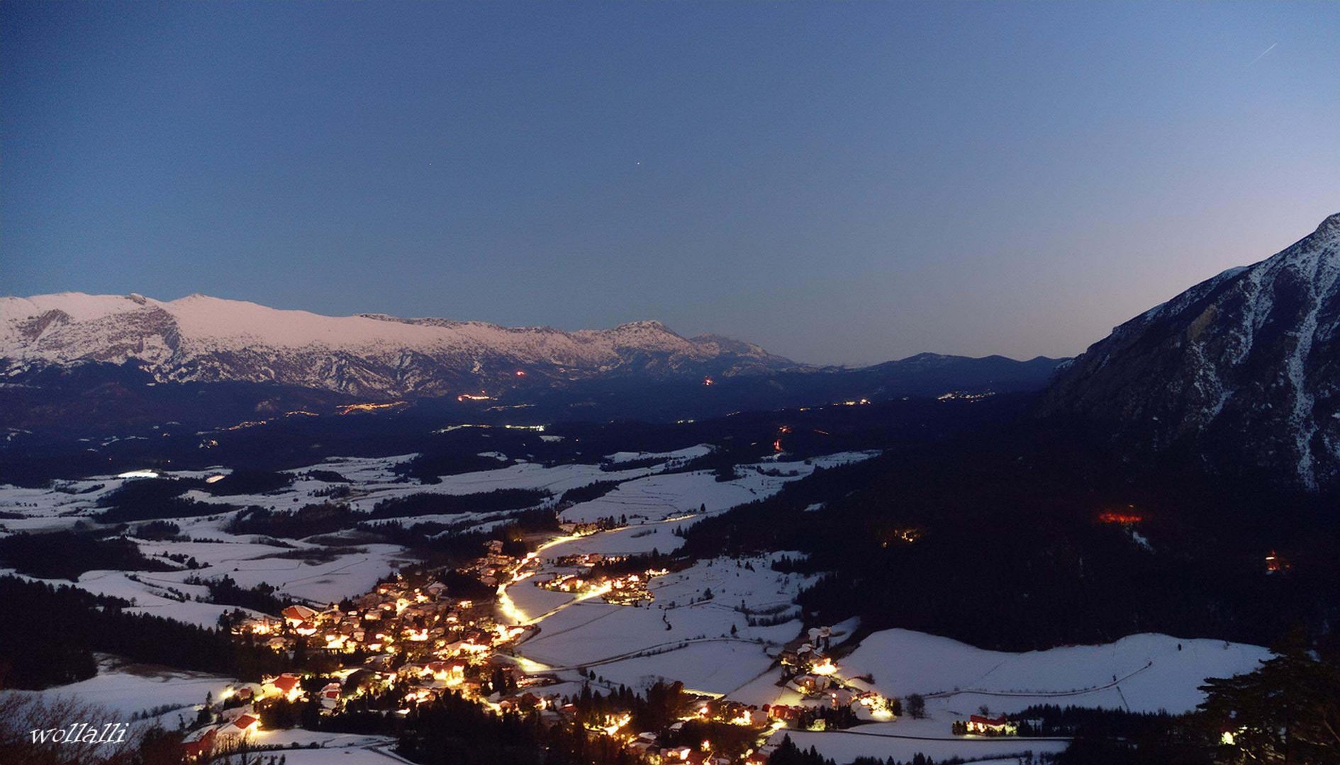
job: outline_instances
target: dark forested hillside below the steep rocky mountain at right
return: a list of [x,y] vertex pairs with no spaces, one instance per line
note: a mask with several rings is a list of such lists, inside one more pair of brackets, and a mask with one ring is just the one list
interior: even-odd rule
[[817,512],[804,512],[805,481],[693,527],[685,551],[803,551],[799,569],[832,572],[801,596],[819,622],[859,615],[1002,650],[1147,631],[1269,644],[1340,615],[1329,502],[1132,472],[1092,443],[1013,425],[890,453]]

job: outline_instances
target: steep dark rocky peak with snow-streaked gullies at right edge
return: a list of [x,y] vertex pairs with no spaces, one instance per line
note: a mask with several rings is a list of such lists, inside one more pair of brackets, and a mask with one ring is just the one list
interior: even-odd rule
[[1061,367],[1041,411],[1221,469],[1340,485],[1337,280],[1340,213],[1116,327]]

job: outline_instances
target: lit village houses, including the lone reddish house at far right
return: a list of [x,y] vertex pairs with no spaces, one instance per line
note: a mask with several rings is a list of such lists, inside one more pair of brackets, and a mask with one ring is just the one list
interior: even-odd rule
[[[539,572],[536,553],[524,557],[504,553],[501,541],[489,543],[485,555],[458,568],[486,587],[498,587],[528,579]],[[635,606],[653,600],[649,581],[666,571],[598,573],[598,564],[616,559],[598,553],[580,553],[555,560],[560,571],[536,585],[574,592],[586,598],[603,598],[614,604]],[[320,674],[304,677],[293,673],[265,678],[263,683],[229,689],[220,722],[193,732],[185,746],[188,758],[208,758],[229,742],[245,742],[259,732],[257,709],[268,709],[269,699],[291,702],[315,701],[327,713],[339,711],[346,699],[364,693],[393,691],[391,707],[407,713],[415,702],[431,701],[444,693],[460,693],[494,710],[516,709],[539,711],[552,719],[576,721],[574,705],[564,705],[557,694],[545,695],[544,686],[557,682],[549,674],[527,674],[512,647],[525,639],[531,624],[500,624],[493,618],[493,603],[454,598],[448,585],[436,580],[411,581],[405,576],[379,583],[371,592],[346,599],[327,608],[302,604],[285,607],[279,618],[257,616],[234,627],[234,632],[277,651],[307,656],[323,654],[327,667]],[[504,608],[505,611],[505,608]],[[686,719],[701,719],[745,726],[760,737],[787,726],[812,726],[816,717],[847,709],[856,719],[887,721],[894,718],[896,702],[880,697],[860,678],[846,679],[828,655],[832,630],[812,628],[788,644],[779,659],[784,667],[783,682],[797,691],[797,705],[748,706],[728,699],[702,698]],[[331,670],[330,667],[338,667]],[[320,679],[314,679],[319,677]],[[557,690],[557,689],[553,689]],[[382,697],[383,699],[386,697]],[[259,706],[256,706],[259,702]],[[389,711],[394,713],[394,711]],[[681,719],[675,727],[682,727]],[[986,718],[982,718],[984,721]],[[819,719],[819,723],[823,721]],[[958,723],[955,723],[958,725]],[[976,732],[988,726],[998,732],[994,721],[969,721]],[[1001,719],[1001,725],[1008,725]],[[590,726],[588,726],[590,727]],[[608,734],[650,762],[691,765],[762,764],[770,754],[768,745],[728,756],[714,750],[712,742],[683,745],[682,736],[666,738],[655,733],[632,733],[630,717],[615,714],[592,727],[592,734]],[[967,729],[965,729],[967,730]],[[957,732],[957,727],[955,727]]]

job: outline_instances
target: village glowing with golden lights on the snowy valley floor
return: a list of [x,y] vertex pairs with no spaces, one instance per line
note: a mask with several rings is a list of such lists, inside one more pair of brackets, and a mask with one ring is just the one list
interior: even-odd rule
[[[570,527],[561,539],[596,528]],[[626,557],[584,553],[541,559],[544,545],[517,557],[503,548],[494,540],[484,556],[452,571],[452,576],[496,589],[492,598],[458,598],[437,579],[441,571],[413,571],[326,608],[291,604],[277,618],[237,622],[236,640],[281,652],[295,669],[260,683],[229,687],[217,699],[216,721],[188,736],[188,758],[263,750],[267,730],[311,723],[302,719],[302,710],[318,710],[320,718],[354,710],[403,718],[444,694],[494,714],[533,714],[551,725],[575,726],[653,764],[761,764],[776,749],[768,741],[779,730],[843,729],[891,721],[900,713],[896,699],[882,697],[868,682],[842,677],[829,656],[831,628],[821,627],[808,630],[775,656],[783,678],[779,697],[799,702],[746,705],[691,691],[682,683],[658,685],[649,694],[670,699],[665,707],[669,717],[657,729],[642,730],[642,713],[623,703],[626,697],[612,690],[602,697],[599,687],[592,695],[586,682],[563,681],[553,669],[517,655],[517,646],[539,627],[515,607],[507,588],[537,587],[579,600],[599,598],[615,606],[647,607],[655,599],[647,584],[667,571],[600,573],[602,567]]]

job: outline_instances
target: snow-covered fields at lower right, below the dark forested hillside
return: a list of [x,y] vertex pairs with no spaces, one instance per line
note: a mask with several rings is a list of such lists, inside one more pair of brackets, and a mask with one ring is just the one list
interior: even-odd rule
[[[840,659],[839,674],[871,675],[874,687],[890,697],[922,694],[926,718],[904,715],[846,732],[788,733],[797,745],[815,746],[838,762],[910,760],[918,752],[937,760],[1060,752],[1064,741],[954,737],[950,726],[982,706],[992,714],[1043,703],[1183,713],[1202,699],[1197,687],[1205,678],[1249,673],[1268,656],[1260,646],[1150,634],[1103,646],[1010,654],[925,632],[884,630]],[[780,738],[779,733],[775,741]]]

